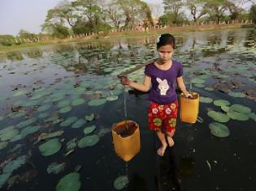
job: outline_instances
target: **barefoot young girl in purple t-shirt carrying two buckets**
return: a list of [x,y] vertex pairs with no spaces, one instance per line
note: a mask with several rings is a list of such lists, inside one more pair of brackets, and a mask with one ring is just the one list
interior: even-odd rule
[[[158,148],[158,155],[163,156],[167,148],[167,143],[171,147],[174,145],[172,139],[178,111],[178,101],[176,95],[176,83],[186,97],[192,97],[184,86],[182,79],[182,65],[180,62],[172,60],[176,42],[171,34],[162,34],[157,40],[158,60],[145,66],[144,83],[134,83],[121,77],[121,83],[133,87],[139,91],[149,91],[150,107],[148,110],[148,122],[150,129],[156,131],[162,146]],[[152,86],[151,86],[152,84]],[[165,134],[167,135],[167,140]]]

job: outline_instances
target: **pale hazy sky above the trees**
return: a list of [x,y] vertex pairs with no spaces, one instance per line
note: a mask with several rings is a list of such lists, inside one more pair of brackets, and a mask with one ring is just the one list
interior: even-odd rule
[[[18,35],[20,29],[41,32],[47,11],[62,0],[0,0],[0,35]],[[162,4],[162,0],[144,0]]]

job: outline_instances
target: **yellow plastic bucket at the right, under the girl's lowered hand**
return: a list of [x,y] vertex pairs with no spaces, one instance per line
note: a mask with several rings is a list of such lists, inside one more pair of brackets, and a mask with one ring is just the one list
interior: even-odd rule
[[199,112],[199,94],[190,93],[193,98],[186,98],[183,93],[180,94],[180,120],[187,123],[195,123]]

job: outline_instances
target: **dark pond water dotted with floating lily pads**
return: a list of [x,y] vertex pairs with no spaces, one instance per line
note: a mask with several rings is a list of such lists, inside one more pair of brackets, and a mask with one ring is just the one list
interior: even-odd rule
[[[255,31],[176,36],[174,59],[187,89],[200,94],[202,120],[178,121],[175,146],[163,157],[147,127],[148,95],[117,78],[157,57],[155,39],[1,55],[0,189],[256,190]],[[143,72],[128,77],[141,82]],[[115,155],[111,135],[125,119],[141,132],[141,151],[128,163]]]

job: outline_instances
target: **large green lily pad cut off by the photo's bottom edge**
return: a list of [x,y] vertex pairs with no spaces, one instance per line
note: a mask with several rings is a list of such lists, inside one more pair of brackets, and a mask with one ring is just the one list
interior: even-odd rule
[[59,180],[56,186],[56,191],[78,191],[80,189],[80,175],[77,172],[72,172]]

